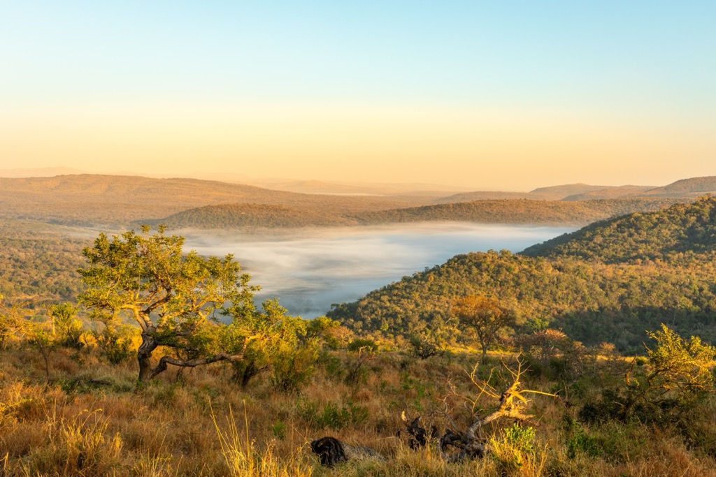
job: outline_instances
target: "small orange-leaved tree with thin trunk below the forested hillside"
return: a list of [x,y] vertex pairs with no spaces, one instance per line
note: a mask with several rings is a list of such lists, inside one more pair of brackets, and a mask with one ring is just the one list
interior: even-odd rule
[[495,343],[502,328],[515,325],[515,315],[500,306],[492,297],[466,295],[453,303],[453,313],[466,333],[474,333],[483,350],[483,363],[487,360],[488,348]]

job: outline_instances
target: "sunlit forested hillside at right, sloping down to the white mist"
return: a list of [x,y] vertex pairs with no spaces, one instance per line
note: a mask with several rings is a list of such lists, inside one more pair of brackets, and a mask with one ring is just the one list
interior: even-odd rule
[[716,339],[716,198],[585,227],[525,255],[458,255],[404,277],[332,318],[387,336],[450,325],[455,297],[495,297],[527,329],[563,328],[589,344],[638,350],[660,322]]

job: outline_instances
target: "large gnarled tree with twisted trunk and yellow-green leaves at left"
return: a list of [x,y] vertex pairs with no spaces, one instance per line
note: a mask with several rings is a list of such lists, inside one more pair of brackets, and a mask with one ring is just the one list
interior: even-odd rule
[[[227,353],[221,348],[218,315],[225,304],[253,307],[249,276],[241,273],[232,255],[223,259],[184,255],[184,237],[164,235],[164,227],[149,235],[134,230],[100,234],[82,251],[88,265],[79,270],[86,290],[78,299],[105,325],[130,318],[139,325],[142,341],[137,350],[138,380],[154,378],[167,365],[194,367],[219,360],[243,359],[243,348]],[[156,366],[152,354],[168,349]]]

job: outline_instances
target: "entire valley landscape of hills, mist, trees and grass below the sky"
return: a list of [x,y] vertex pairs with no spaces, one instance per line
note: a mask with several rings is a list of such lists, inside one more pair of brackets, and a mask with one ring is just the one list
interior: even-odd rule
[[[0,469],[708,475],[716,198],[692,182],[447,203],[3,182]],[[324,467],[321,436],[382,457]],[[446,453],[454,436],[482,450]]]

